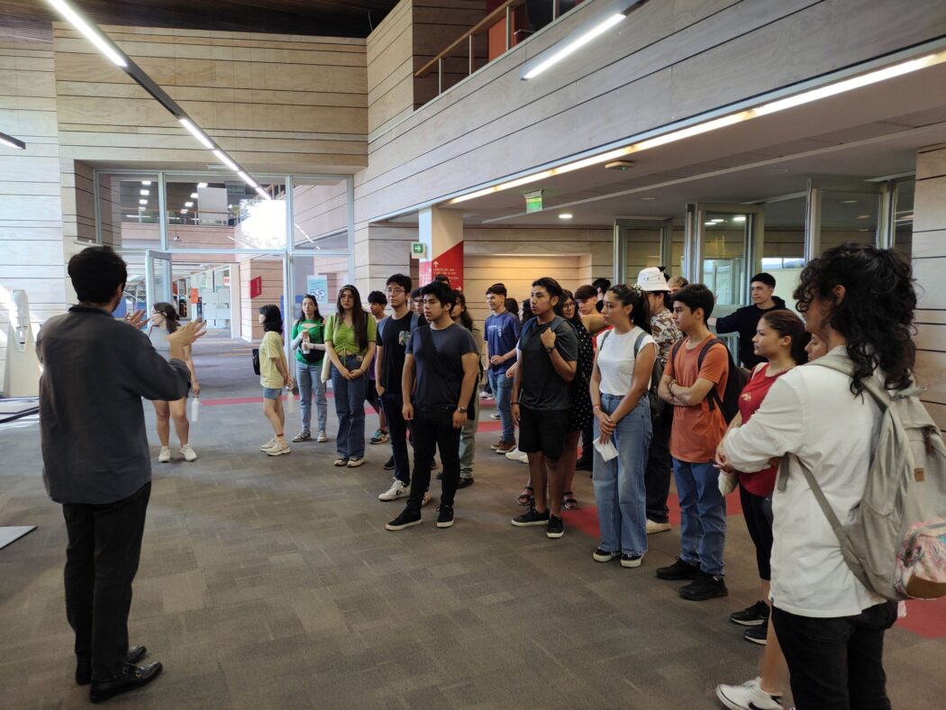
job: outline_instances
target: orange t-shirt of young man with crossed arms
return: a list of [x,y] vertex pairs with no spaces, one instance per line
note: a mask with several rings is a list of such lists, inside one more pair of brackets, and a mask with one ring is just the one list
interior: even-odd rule
[[[729,358],[726,346],[715,345],[710,347],[703,358],[703,367],[697,370],[700,350],[706,344],[707,338],[714,337],[712,333],[700,341],[693,348],[684,341],[675,358],[667,362],[663,374],[669,375],[681,387],[692,387],[699,379],[709,380],[716,384],[716,393],[723,399],[726,391],[726,381],[729,377]],[[678,461],[687,461],[692,464],[712,461],[716,456],[716,447],[726,435],[726,418],[718,406],[710,410],[710,395],[703,399],[698,406],[674,406],[674,428],[670,435],[670,453]]]

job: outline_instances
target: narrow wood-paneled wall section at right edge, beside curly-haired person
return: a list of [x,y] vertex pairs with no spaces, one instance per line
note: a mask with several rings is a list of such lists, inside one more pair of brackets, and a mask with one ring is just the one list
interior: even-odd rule
[[913,211],[913,275],[917,310],[917,375],[928,387],[922,399],[946,429],[946,145],[932,146],[917,157],[917,191]]

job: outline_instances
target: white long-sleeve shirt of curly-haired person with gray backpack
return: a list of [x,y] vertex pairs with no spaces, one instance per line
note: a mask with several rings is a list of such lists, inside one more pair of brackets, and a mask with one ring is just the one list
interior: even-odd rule
[[[825,357],[846,359],[845,347]],[[873,399],[867,393],[855,398],[846,375],[808,364],[780,377],[759,411],[724,440],[736,470],[762,470],[770,458],[795,454],[789,458],[787,487],[776,488],[772,499],[771,595],[782,611],[848,616],[884,602],[851,574],[798,463],[814,472],[838,520],[850,524],[867,484],[880,422]]]

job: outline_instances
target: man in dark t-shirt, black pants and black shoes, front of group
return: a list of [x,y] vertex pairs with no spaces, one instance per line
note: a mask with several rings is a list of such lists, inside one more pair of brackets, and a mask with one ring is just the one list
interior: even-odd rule
[[442,283],[421,289],[430,325],[411,333],[404,359],[402,414],[412,422],[414,470],[411,497],[388,530],[420,524],[420,508],[430,483],[430,461],[440,449],[443,493],[437,527],[453,524],[453,498],[460,481],[460,432],[479,372],[480,347],[470,331],[450,318],[456,294]]

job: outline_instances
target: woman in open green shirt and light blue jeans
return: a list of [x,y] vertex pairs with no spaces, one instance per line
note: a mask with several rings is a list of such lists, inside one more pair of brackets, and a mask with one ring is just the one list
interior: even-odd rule
[[325,420],[328,418],[328,399],[325,383],[322,382],[322,362],[325,357],[325,319],[319,312],[314,295],[302,297],[302,312],[299,320],[292,324],[292,349],[296,354],[296,382],[299,383],[299,411],[302,412],[302,431],[292,437],[293,441],[311,438],[309,426],[312,422],[312,390],[315,390],[315,406],[318,415],[319,435],[316,441],[327,441]]

